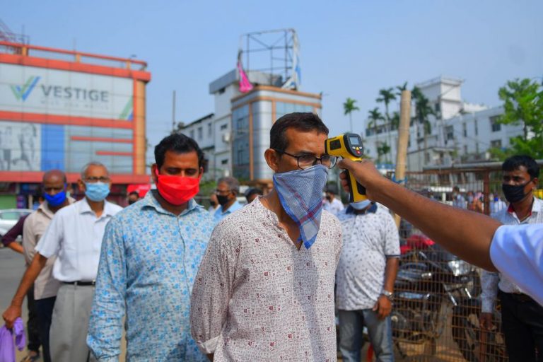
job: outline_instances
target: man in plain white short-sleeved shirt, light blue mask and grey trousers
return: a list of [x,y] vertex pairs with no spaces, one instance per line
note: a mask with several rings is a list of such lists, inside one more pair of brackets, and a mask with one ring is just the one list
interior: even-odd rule
[[[88,318],[100,259],[105,226],[121,207],[105,200],[111,180],[107,168],[98,162],[83,167],[78,185],[85,191],[81,201],[66,206],[54,215],[37,243],[36,254],[25,271],[11,306],[2,317],[8,327],[21,316],[21,304],[47,259],[56,256],[53,277],[62,285],[54,302],[49,349],[55,362],[87,361]],[[52,195],[52,200],[57,200]]]

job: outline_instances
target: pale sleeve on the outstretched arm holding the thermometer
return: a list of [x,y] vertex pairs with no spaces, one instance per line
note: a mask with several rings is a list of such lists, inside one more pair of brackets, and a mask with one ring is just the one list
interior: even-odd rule
[[490,257],[496,269],[543,305],[543,224],[500,226]]

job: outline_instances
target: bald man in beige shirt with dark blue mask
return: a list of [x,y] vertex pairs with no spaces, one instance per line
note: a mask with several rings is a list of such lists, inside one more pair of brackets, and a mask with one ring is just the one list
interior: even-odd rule
[[[61,170],[50,170],[43,175],[42,194],[45,202],[26,218],[23,226],[23,254],[27,267],[32,262],[35,247],[47,230],[49,223],[60,209],[72,204],[75,200],[66,196],[66,175]],[[52,276],[55,257],[50,257],[37,276],[34,286],[28,291],[28,298],[33,294],[37,314],[37,329],[42,343],[43,361],[51,361],[49,354],[49,327],[53,314],[54,300],[60,283]]]

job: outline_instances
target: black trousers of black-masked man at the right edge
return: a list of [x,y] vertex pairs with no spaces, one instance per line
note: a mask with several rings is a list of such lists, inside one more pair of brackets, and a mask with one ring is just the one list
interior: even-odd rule
[[500,292],[510,362],[543,362],[543,307],[532,298]]

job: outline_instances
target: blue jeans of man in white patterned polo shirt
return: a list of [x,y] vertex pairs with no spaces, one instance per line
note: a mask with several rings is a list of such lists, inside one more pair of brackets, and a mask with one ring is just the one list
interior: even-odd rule
[[390,315],[380,320],[371,309],[338,310],[339,351],[345,362],[360,362],[363,346],[363,327],[368,328],[370,343],[378,362],[394,361]]

